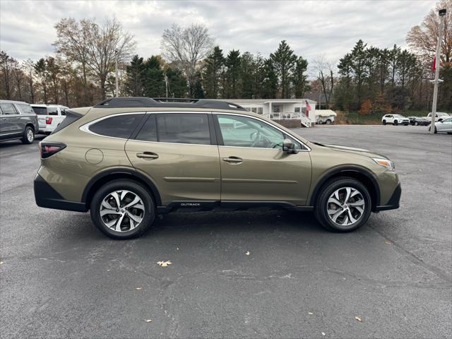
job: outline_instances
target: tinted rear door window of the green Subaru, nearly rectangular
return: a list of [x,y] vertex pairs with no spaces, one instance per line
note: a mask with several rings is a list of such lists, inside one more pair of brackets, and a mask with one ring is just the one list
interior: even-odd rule
[[210,145],[208,114],[157,114],[157,140]]

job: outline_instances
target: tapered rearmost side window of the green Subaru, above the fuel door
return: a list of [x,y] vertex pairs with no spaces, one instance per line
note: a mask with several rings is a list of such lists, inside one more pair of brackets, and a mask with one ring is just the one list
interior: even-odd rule
[[124,114],[103,119],[90,126],[90,131],[101,136],[129,138],[133,129],[143,118],[143,114]]

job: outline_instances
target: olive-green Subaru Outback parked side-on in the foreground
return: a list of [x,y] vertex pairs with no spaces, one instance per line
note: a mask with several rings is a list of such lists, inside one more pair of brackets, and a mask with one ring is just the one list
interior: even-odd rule
[[229,102],[124,97],[66,110],[40,143],[38,206],[87,212],[110,237],[143,234],[179,208],[314,211],[348,232],[398,208],[383,155],[322,145]]

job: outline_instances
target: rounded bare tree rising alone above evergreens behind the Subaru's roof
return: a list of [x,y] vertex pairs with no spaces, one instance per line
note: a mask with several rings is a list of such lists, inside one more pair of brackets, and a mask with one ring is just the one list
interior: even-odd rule
[[192,24],[182,28],[173,24],[163,31],[161,49],[164,56],[184,71],[189,82],[190,96],[194,96],[196,71],[199,61],[213,48],[213,39],[208,28],[202,24]]

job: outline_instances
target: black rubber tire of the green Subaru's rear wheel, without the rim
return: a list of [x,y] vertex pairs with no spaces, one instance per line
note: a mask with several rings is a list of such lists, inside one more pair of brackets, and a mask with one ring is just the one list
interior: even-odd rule
[[[144,215],[143,220],[141,220],[138,226],[133,228],[133,230],[117,232],[115,230],[112,230],[112,228],[107,227],[107,225],[105,225],[105,223],[103,222],[102,217],[100,216],[100,206],[102,204],[102,200],[108,194],[120,190],[131,191],[133,194],[136,194],[136,196],[141,198],[144,206]],[[90,204],[90,213],[93,224],[102,233],[114,239],[131,239],[141,236],[141,234],[143,234],[153,225],[153,222],[155,221],[156,208],[153,196],[148,192],[147,189],[143,188],[141,184],[129,180],[119,179],[105,184],[95,192]]]

